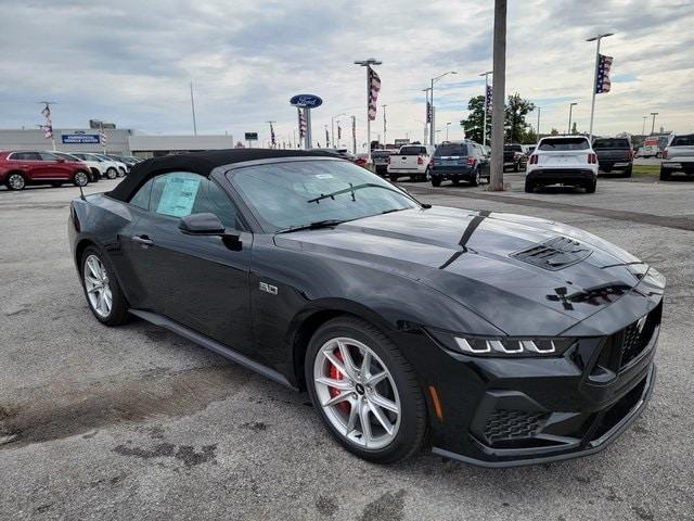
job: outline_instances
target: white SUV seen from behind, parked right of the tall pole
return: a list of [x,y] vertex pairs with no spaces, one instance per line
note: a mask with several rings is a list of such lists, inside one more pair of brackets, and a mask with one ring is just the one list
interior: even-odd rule
[[597,155],[586,136],[542,138],[528,157],[525,191],[538,186],[571,185],[593,193],[597,183]]

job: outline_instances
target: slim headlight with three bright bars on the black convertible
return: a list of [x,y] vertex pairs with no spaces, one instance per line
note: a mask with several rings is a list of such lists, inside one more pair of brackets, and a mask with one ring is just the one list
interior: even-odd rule
[[430,331],[448,350],[484,357],[556,357],[571,347],[574,338],[474,336]]

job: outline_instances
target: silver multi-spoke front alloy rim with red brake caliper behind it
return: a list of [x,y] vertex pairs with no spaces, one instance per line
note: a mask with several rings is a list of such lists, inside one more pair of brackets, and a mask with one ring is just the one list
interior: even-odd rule
[[332,427],[365,449],[389,445],[398,434],[398,389],[383,360],[355,339],[325,342],[313,363],[316,395]]

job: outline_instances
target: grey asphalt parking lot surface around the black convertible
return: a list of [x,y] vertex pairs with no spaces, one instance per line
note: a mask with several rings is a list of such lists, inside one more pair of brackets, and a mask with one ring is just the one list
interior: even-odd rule
[[3,189],[0,519],[694,519],[694,182],[526,194],[522,175],[506,180],[503,193],[402,186],[435,205],[578,226],[668,278],[653,398],[604,452],[503,470],[429,454],[361,461],[306,395],[146,322],[101,326],[66,240],[78,190]]

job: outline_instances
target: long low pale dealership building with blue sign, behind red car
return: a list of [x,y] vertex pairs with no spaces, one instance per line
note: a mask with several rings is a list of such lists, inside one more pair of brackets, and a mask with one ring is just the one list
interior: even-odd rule
[[[104,152],[115,155],[156,157],[170,153],[231,149],[232,136],[154,136],[129,128],[104,128],[105,144],[94,128],[54,128],[55,150],[63,152]],[[0,129],[0,150],[51,150],[52,141],[37,129]]]

